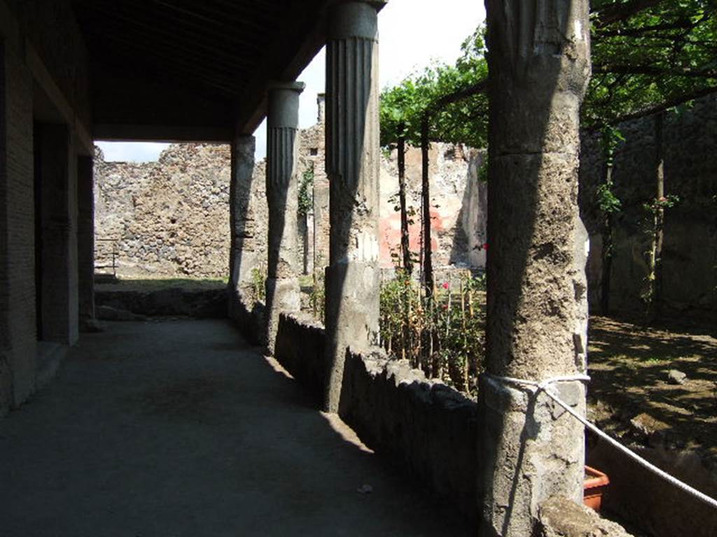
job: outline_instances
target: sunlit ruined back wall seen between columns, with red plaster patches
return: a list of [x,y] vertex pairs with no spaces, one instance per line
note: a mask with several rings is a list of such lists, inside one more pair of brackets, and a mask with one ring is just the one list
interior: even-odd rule
[[[328,178],[324,170],[323,107],[320,121],[300,130],[299,171],[313,170],[313,211],[297,215],[305,271],[328,265]],[[485,266],[486,187],[478,180],[483,152],[433,144],[432,248],[435,266]],[[420,249],[421,155],[406,158],[412,250]],[[156,163],[108,163],[95,155],[95,263],[125,277],[224,277],[229,264],[229,147],[173,144]],[[381,265],[393,266],[400,241],[396,152],[381,158]],[[256,268],[266,268],[265,160],[252,180],[251,229]],[[259,199],[260,198],[260,199]],[[260,202],[260,203],[257,203]],[[261,260],[264,260],[263,263]],[[103,271],[108,271],[107,268]]]

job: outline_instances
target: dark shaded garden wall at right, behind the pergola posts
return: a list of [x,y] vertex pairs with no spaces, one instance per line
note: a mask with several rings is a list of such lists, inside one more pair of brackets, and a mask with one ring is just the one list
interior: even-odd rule
[[[614,158],[615,193],[622,210],[614,218],[610,303],[617,311],[640,311],[650,247],[648,213],[655,198],[655,117],[619,125],[625,142]],[[665,211],[663,299],[673,312],[713,316],[717,311],[717,95],[665,115],[665,194],[680,201]],[[602,237],[595,192],[604,180],[599,138],[584,133],[580,206],[591,239],[588,263],[591,307],[599,308]]]

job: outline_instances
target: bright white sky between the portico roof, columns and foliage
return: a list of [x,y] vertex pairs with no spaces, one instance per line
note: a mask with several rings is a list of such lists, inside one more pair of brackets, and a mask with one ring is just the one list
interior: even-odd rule
[[[379,76],[381,88],[396,84],[432,59],[453,62],[460,44],[485,19],[482,0],[389,0],[379,14]],[[316,122],[316,95],[324,91],[323,49],[298,79],[305,82],[299,124]],[[257,128],[257,160],[266,155],[266,122]],[[98,142],[106,160],[156,160],[167,147],[153,142]]]

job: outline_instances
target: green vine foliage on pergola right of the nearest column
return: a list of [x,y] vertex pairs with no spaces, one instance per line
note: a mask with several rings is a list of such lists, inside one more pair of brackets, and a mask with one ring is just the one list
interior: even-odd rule
[[584,125],[717,90],[716,0],[593,0]]

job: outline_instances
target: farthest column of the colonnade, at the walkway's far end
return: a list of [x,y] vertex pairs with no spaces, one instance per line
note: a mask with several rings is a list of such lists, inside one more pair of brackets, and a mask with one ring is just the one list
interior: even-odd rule
[[232,142],[232,177],[229,178],[229,311],[234,317],[238,302],[248,304],[252,287],[251,271],[259,263],[255,248],[255,218],[252,211],[252,177],[256,141],[253,136],[238,136]]

